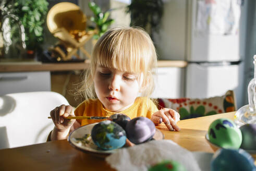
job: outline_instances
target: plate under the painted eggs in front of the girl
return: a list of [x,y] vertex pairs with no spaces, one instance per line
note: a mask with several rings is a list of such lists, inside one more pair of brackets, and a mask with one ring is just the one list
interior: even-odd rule
[[[94,144],[91,136],[84,138],[85,135],[91,134],[91,130],[96,124],[97,123],[89,124],[89,125],[85,125],[75,129],[70,133],[68,137],[68,142],[74,148],[87,153],[92,153],[96,155],[109,155],[109,154],[115,153],[118,149],[101,150],[96,144]],[[155,135],[153,138],[155,140],[162,140],[164,139],[164,135],[159,129],[156,128]],[[126,147],[124,146],[123,148],[126,148]]]

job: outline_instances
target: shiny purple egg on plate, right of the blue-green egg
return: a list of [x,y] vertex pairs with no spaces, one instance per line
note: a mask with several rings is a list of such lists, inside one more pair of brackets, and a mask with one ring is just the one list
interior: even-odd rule
[[126,125],[127,138],[135,144],[149,141],[155,135],[155,124],[147,117],[136,117]]

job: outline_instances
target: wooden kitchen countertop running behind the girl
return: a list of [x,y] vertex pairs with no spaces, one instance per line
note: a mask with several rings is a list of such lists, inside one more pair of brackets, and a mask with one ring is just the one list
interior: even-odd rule
[[[0,63],[0,72],[84,70],[89,65],[89,60],[86,60],[84,63]],[[184,60],[159,60],[157,65],[158,67],[184,68],[187,66],[187,62]]]

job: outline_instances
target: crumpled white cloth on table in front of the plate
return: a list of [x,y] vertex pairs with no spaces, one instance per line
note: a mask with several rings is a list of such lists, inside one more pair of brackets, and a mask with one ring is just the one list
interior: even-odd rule
[[147,171],[164,160],[174,160],[187,170],[201,170],[193,154],[172,140],[153,140],[129,148],[119,149],[105,158],[112,168],[122,171]]

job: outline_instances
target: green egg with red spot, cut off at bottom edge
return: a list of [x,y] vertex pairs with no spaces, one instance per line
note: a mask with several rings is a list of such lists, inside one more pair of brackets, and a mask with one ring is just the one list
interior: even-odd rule
[[163,161],[149,168],[148,171],[186,171],[185,167],[176,161]]

